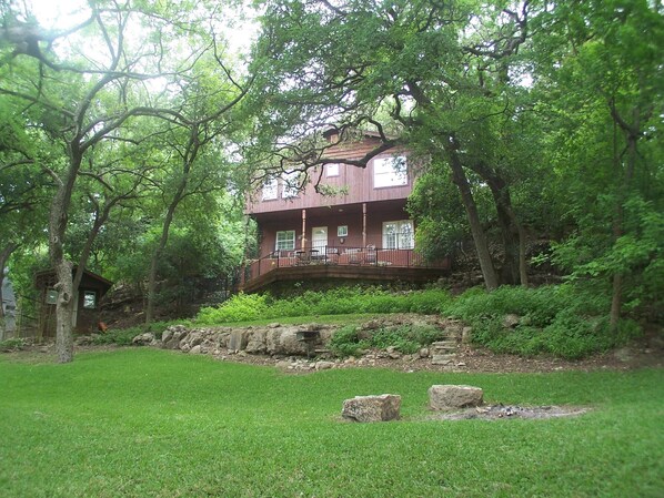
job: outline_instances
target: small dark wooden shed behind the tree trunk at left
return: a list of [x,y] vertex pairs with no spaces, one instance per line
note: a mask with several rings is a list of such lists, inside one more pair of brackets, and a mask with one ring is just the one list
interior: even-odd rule
[[[77,267],[72,268],[76,274]],[[54,270],[38,272],[34,276],[34,285],[39,291],[38,309],[38,335],[40,337],[53,337],[56,335],[56,304],[58,303],[58,291],[54,285],[58,282]],[[74,333],[90,334],[97,331],[100,321],[100,301],[112,287],[113,283],[103,276],[83,271],[83,277],[74,296],[72,325]]]

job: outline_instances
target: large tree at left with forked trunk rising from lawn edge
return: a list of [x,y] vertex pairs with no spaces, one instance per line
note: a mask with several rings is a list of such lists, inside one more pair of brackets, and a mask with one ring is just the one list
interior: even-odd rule
[[[171,85],[179,81],[180,74],[190,70],[191,61],[195,63],[209,49],[209,45],[198,45],[183,53],[178,47],[175,37],[200,23],[197,16],[205,14],[190,10],[187,4],[177,8],[172,4],[91,2],[89,12],[89,21],[58,33],[59,50],[49,50],[46,42],[52,38],[46,34],[24,39],[28,44],[23,45],[9,31],[2,32],[2,41],[13,48],[3,52],[8,57],[0,68],[6,73],[0,83],[0,96],[23,102],[27,109],[36,112],[41,140],[53,144],[48,160],[40,162],[40,166],[56,184],[48,226],[49,253],[58,278],[57,348],[60,362],[73,358],[71,315],[89,247],[108,220],[110,210],[125,195],[125,191],[115,193],[107,197],[103,205],[99,203],[94,207],[97,217],[78,260],[78,271],[72,276],[72,262],[67,252],[68,221],[78,180],[88,175],[107,192],[114,192],[107,173],[87,172],[85,167],[101,165],[98,159],[103,152],[100,149],[104,149],[102,144],[141,142],[141,136],[135,134],[138,126],[130,126],[139,119],[160,118],[163,123],[193,129],[197,122],[179,113],[182,102],[172,103]],[[30,16],[26,13],[24,18]],[[26,23],[17,16],[10,21],[9,24],[6,21],[6,26],[17,27],[19,34],[28,32]],[[29,28],[43,34],[34,23]],[[88,50],[90,47],[101,49],[92,53]],[[155,90],[159,88],[161,90]],[[89,199],[92,204],[98,202],[94,195]]]

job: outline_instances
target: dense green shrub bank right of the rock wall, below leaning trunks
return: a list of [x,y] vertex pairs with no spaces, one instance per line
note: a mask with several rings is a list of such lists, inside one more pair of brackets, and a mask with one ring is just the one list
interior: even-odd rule
[[[605,314],[608,301],[607,293],[581,284],[503,286],[491,293],[467,291],[447,312],[470,323],[473,341],[495,353],[581,358],[624,344],[640,333],[627,319],[617,334],[611,332]],[[504,325],[510,314],[519,316],[513,328]]]

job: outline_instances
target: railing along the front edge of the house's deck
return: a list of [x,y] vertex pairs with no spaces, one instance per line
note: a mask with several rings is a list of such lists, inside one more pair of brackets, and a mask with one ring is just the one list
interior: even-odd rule
[[258,278],[276,268],[343,265],[374,267],[446,267],[446,261],[429,263],[413,250],[383,248],[369,245],[366,247],[318,246],[305,250],[273,251],[248,265],[247,282]]

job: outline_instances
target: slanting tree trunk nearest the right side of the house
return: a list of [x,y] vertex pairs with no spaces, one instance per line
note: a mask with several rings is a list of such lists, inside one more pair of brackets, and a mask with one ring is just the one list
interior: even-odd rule
[[489,244],[486,243],[486,236],[482,230],[482,223],[480,222],[480,215],[477,213],[475,200],[473,199],[473,193],[471,192],[471,186],[456,151],[449,148],[447,155],[450,159],[450,167],[452,169],[452,179],[454,184],[459,187],[461,200],[469,218],[469,224],[471,225],[471,234],[473,235],[473,242],[475,243],[475,251],[477,252],[480,268],[482,270],[482,276],[484,277],[484,285],[487,291],[493,291],[499,286],[497,276],[495,268],[493,267]]

